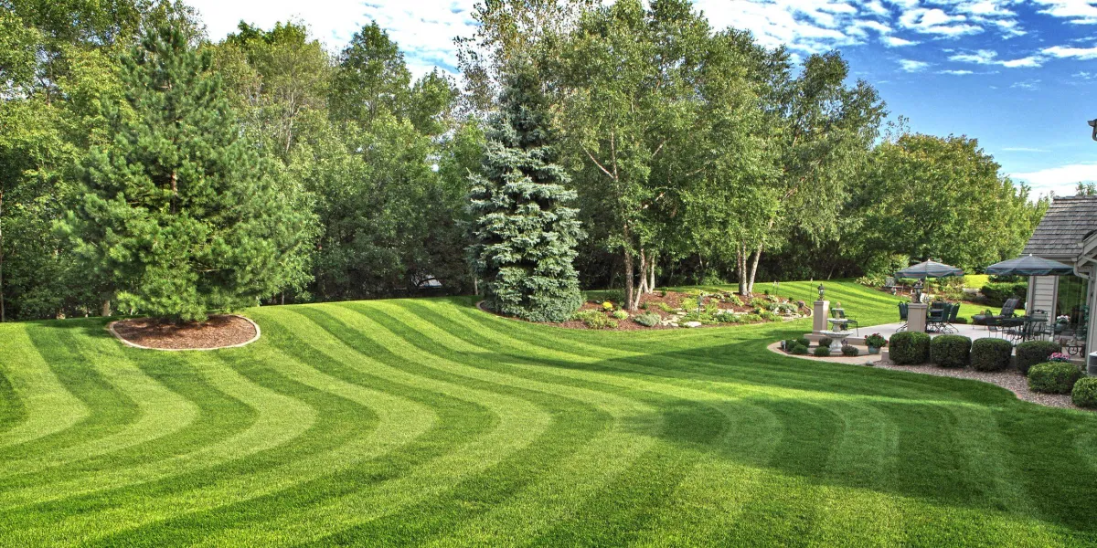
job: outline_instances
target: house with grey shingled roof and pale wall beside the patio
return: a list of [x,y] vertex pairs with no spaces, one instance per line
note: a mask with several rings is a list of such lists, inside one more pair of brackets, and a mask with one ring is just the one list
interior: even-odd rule
[[1076,332],[1093,352],[1097,322],[1089,321],[1089,311],[1097,308],[1097,196],[1055,197],[1024,253],[1074,266],[1071,275],[1031,276],[1026,310],[1070,317],[1065,331]]

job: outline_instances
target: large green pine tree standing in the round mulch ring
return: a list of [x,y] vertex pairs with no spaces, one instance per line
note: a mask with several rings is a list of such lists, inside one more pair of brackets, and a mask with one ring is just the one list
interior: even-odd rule
[[312,214],[241,138],[212,58],[170,24],[122,56],[115,132],[81,162],[63,227],[124,308],[177,320],[251,306],[304,276]]

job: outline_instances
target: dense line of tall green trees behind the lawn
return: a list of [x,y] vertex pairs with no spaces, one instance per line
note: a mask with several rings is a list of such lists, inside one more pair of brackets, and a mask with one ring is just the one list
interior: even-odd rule
[[977,270],[1047,205],[974,139],[882,136],[839,54],[688,0],[474,16],[459,80],[375,23],[332,53],[299,21],[214,43],[179,2],[0,0],[0,319]]

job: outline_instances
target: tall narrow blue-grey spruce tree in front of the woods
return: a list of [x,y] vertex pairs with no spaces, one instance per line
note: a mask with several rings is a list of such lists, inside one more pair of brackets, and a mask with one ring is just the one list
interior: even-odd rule
[[489,308],[565,321],[583,305],[573,261],[584,233],[567,206],[575,192],[555,163],[547,107],[531,67],[516,65],[487,134],[483,174],[472,179],[470,255]]

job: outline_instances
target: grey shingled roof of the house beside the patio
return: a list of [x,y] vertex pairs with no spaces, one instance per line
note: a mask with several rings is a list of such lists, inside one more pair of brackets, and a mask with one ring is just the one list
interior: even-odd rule
[[1056,197],[1032,232],[1024,253],[1075,259],[1082,252],[1082,240],[1094,230],[1097,230],[1097,196]]

